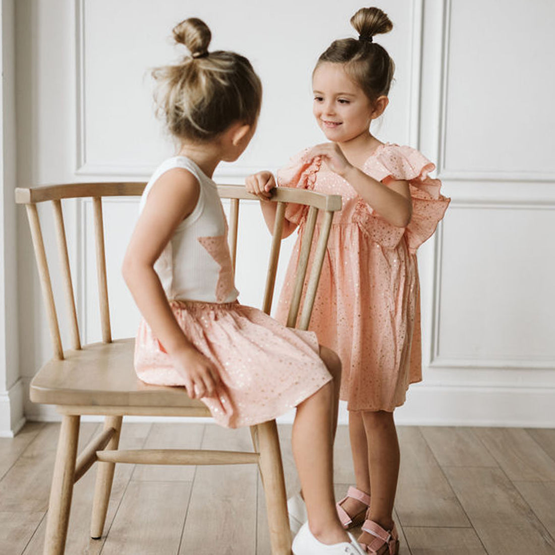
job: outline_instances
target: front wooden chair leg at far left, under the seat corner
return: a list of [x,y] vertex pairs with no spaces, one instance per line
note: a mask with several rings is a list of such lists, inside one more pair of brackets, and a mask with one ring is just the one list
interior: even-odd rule
[[77,459],[79,419],[79,416],[66,415],[62,420],[48,503],[44,555],[63,555],[65,549]]

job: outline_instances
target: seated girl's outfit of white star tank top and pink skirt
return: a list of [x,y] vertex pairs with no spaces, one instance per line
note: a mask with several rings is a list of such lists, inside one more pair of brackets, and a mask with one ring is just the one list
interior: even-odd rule
[[[154,269],[181,330],[220,373],[223,386],[218,394],[201,401],[222,426],[271,420],[330,381],[316,334],[289,329],[236,300],[228,225],[218,189],[192,160],[166,160],[147,184],[140,209],[159,176],[173,168],[186,169],[198,179],[199,200],[176,228]],[[135,341],[135,371],[147,384],[184,385],[145,320]]]

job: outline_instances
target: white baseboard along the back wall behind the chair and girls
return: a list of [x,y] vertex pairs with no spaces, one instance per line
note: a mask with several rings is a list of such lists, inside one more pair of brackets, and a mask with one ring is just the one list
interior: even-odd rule
[[[41,406],[27,413],[27,420],[57,421],[54,407]],[[292,423],[295,411],[278,418]],[[84,416],[84,422],[103,417]],[[211,422],[210,418],[127,416],[126,422]],[[340,403],[339,424],[349,422],[345,402]],[[402,426],[496,426],[555,428],[555,388],[411,386],[407,401],[395,411]]]

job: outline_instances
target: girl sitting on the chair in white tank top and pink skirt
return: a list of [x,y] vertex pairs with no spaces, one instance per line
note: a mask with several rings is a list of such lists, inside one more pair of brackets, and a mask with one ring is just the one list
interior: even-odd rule
[[210,31],[200,19],[186,19],[173,33],[191,56],[154,77],[179,150],[144,190],[123,263],[144,317],[135,369],[149,384],[184,386],[223,426],[254,425],[297,407],[292,448],[310,528],[297,534],[293,551],[362,555],[334,504],[332,375],[339,379],[339,359],[319,347],[314,332],[288,329],[237,301],[227,223],[211,175],[253,137],[260,80],[243,56],[208,52]]

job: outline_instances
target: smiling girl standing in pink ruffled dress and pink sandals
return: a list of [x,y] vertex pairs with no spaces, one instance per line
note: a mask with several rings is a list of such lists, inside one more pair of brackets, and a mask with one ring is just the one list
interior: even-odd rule
[[[341,398],[348,402],[356,487],[337,503],[346,528],[362,523],[359,542],[368,553],[397,553],[392,518],[399,448],[393,411],[408,385],[420,381],[420,298],[416,250],[433,234],[449,199],[428,174],[433,164],[420,152],[381,143],[370,123],[386,109],[393,61],[379,33],[391,30],[378,8],[362,8],[351,23],[359,38],[334,41],[314,73],[314,115],[329,143],[298,155],[278,173],[250,176],[273,229],[275,205],[265,202],[275,186],[340,194],[342,210],[331,228],[310,327],[342,362]],[[278,319],[285,321],[306,212],[286,210],[284,236],[299,226]],[[316,228],[316,232],[317,233]],[[302,501],[290,500],[302,519]]]

